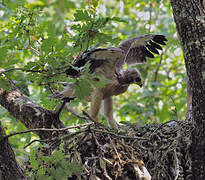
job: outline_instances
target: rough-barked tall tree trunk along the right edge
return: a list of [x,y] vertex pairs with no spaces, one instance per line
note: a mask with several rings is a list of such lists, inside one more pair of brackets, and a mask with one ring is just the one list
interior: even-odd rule
[[171,1],[177,31],[184,52],[192,91],[190,156],[192,179],[204,179],[205,172],[205,9],[204,1]]

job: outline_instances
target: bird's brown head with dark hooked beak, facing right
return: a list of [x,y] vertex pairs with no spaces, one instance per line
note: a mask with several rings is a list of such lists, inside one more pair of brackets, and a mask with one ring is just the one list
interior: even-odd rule
[[137,84],[142,87],[142,78],[137,69],[128,69],[124,71],[121,82],[123,84]]

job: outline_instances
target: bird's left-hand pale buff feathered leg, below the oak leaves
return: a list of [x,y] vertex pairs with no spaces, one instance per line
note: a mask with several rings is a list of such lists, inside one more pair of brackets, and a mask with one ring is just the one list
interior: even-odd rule
[[103,99],[103,94],[99,89],[97,89],[92,93],[91,98],[92,99],[91,99],[90,115],[93,119],[99,121],[99,111]]

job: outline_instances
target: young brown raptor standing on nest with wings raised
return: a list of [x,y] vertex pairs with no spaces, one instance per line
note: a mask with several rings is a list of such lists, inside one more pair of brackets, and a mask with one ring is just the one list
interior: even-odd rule
[[[159,54],[161,45],[167,39],[163,35],[143,35],[125,40],[117,48],[98,48],[88,50],[77,57],[72,66],[66,70],[69,77],[76,78],[81,75],[82,67],[90,63],[89,72],[100,75],[106,82],[105,87],[95,89],[91,94],[91,117],[98,120],[102,100],[104,101],[104,115],[112,128],[117,128],[113,119],[112,96],[124,93],[130,84],[142,86],[142,78],[137,69],[123,70],[127,63],[146,63],[146,58],[154,58]],[[75,68],[77,67],[77,68]],[[67,90],[70,90],[69,88]],[[66,97],[66,90],[61,94]],[[72,96],[74,92],[72,92]]]

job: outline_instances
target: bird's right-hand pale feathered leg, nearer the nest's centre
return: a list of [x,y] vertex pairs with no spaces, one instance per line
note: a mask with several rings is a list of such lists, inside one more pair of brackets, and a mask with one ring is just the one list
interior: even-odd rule
[[108,120],[109,125],[117,129],[117,123],[113,119],[113,102],[112,102],[112,96],[104,99],[104,116]]

